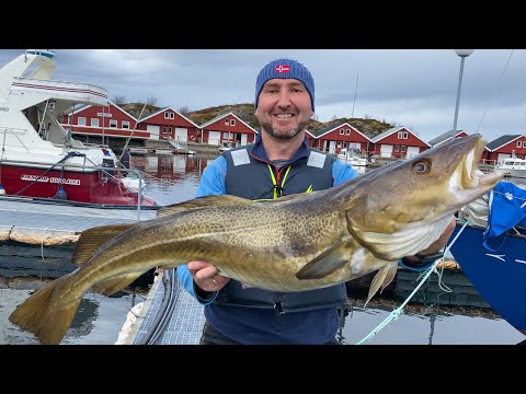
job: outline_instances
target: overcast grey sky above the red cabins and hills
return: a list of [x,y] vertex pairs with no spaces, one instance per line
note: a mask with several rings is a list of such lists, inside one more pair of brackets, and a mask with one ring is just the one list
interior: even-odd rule
[[[460,57],[454,49],[55,49],[54,79],[104,88],[112,100],[191,111],[253,103],[255,77],[286,56],[309,68],[316,117],[371,117],[425,141],[451,130]],[[3,66],[23,49],[1,49]],[[357,89],[356,89],[357,85]],[[353,112],[354,109],[354,112]],[[488,141],[526,134],[526,49],[474,49],[466,58],[457,130]]]

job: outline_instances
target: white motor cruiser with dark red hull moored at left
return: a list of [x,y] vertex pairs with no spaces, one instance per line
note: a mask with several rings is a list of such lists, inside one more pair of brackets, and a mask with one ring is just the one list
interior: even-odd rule
[[53,80],[55,51],[28,49],[0,69],[0,188],[8,196],[155,206],[122,178],[107,146],[84,144],[59,119],[77,104],[108,105],[106,90]]

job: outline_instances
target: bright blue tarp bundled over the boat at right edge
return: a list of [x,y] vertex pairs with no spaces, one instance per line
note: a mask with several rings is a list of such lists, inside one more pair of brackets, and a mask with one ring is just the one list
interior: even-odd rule
[[510,182],[499,182],[490,197],[484,246],[490,251],[498,251],[506,232],[517,225],[526,228],[526,190]]

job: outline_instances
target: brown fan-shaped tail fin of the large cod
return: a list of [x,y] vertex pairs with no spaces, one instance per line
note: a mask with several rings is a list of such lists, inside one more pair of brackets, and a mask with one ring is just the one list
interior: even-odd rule
[[57,300],[60,280],[56,279],[31,294],[9,316],[20,328],[33,333],[43,345],[58,345],[77,313],[82,297],[65,303]]

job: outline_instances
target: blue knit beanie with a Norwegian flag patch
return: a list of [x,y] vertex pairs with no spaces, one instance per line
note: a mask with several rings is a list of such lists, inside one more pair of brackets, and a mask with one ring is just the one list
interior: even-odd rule
[[310,71],[299,61],[287,58],[279,58],[266,63],[255,80],[254,109],[258,109],[258,97],[266,81],[274,78],[291,78],[302,82],[310,94],[310,104],[315,111],[315,80]]

